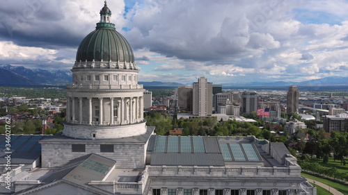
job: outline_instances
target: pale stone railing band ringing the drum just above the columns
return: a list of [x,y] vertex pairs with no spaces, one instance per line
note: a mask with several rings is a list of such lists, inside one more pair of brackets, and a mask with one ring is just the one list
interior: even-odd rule
[[92,85],[70,84],[67,90],[142,90],[143,85]]

